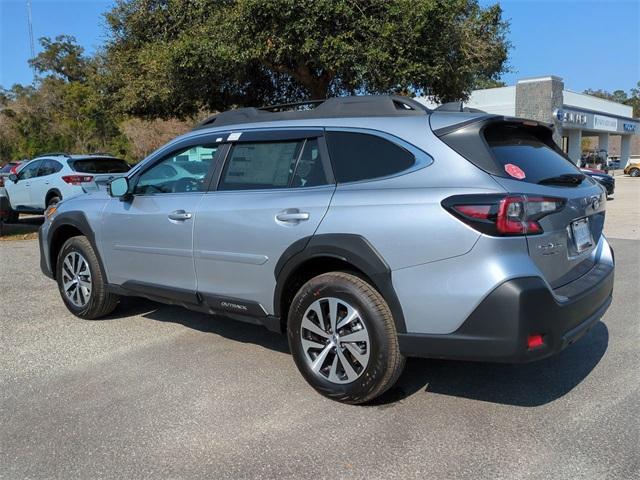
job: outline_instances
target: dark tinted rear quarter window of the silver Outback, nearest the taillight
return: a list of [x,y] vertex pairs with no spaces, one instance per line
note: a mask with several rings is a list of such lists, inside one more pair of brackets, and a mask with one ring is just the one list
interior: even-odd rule
[[338,183],[394,175],[415,163],[412,153],[376,135],[328,132],[327,145]]

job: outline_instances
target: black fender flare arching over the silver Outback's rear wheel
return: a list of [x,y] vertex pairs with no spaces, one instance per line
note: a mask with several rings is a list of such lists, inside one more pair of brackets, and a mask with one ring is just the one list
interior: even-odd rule
[[386,300],[398,333],[406,333],[402,306],[393,288],[391,269],[369,241],[356,234],[324,233],[292,243],[276,263],[274,275],[275,315],[280,317],[280,301],[289,276],[304,262],[317,257],[332,257],[353,265],[364,273]]

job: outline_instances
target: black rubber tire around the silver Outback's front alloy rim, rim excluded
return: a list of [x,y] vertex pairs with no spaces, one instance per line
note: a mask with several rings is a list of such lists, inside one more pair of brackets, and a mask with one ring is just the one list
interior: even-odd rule
[[[91,293],[88,302],[82,307],[74,305],[64,292],[62,268],[64,259],[72,252],[77,252],[86,259],[91,273]],[[95,320],[110,314],[118,305],[118,296],[106,290],[104,272],[86,237],[71,237],[64,243],[56,259],[56,279],[62,300],[69,311],[77,317]]]

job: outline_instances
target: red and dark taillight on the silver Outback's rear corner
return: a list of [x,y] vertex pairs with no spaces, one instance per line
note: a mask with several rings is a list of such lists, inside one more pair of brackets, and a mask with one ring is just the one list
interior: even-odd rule
[[564,208],[566,200],[529,195],[456,195],[442,202],[449,212],[476,230],[493,236],[542,233],[538,221]]

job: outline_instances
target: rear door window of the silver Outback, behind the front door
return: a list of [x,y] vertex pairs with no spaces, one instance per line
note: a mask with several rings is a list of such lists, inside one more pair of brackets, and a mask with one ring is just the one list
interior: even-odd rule
[[264,190],[326,185],[318,141],[240,143],[233,146],[219,190]]

